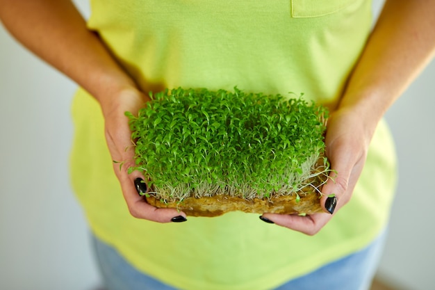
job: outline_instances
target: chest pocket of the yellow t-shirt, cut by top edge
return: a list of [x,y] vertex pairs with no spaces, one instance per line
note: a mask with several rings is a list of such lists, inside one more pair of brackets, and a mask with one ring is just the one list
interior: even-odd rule
[[295,18],[320,17],[336,13],[359,0],[291,0],[291,15]]

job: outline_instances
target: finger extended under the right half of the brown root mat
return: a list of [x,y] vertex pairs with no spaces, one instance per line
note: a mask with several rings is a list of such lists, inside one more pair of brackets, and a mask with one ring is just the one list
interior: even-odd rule
[[287,227],[288,229],[313,236],[328,223],[331,216],[327,214],[313,214],[311,216],[263,214],[263,218],[267,218],[281,227]]

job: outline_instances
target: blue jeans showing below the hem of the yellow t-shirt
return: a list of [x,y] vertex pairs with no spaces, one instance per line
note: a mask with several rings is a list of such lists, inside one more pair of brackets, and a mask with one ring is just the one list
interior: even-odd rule
[[[275,290],[368,290],[375,275],[386,231],[367,248],[290,280]],[[92,238],[106,290],[176,290],[133,268],[118,252]]]

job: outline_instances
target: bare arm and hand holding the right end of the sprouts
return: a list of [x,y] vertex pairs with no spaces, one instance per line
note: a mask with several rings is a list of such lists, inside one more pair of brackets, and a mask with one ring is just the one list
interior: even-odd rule
[[[335,182],[329,180],[322,188],[320,202],[325,211],[333,214],[350,200],[379,120],[435,54],[434,27],[435,0],[386,1],[340,104],[328,121],[327,156],[337,175]],[[337,200],[327,200],[331,193]],[[305,234],[317,233],[331,219],[330,214],[263,216]]]

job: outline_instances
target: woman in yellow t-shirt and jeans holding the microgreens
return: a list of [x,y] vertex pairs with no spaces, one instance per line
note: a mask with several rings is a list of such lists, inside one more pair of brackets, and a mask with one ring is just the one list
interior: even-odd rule
[[[395,184],[381,119],[434,55],[435,1],[386,1],[373,31],[365,0],[91,4],[87,23],[66,0],[0,0],[0,17],[81,86],[73,185],[108,289],[367,289]],[[140,198],[124,112],[178,86],[330,106],[325,214],[191,218]]]

